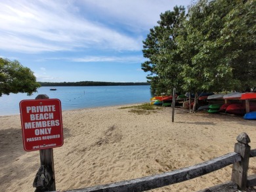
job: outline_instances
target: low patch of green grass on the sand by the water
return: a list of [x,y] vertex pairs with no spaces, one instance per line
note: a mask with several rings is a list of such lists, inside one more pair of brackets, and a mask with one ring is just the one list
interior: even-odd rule
[[129,107],[120,107],[119,109],[131,109],[129,112],[136,113],[138,115],[145,114],[148,115],[151,112],[156,113],[156,110],[161,110],[161,107],[150,105],[148,103],[142,104],[140,106],[129,106]]

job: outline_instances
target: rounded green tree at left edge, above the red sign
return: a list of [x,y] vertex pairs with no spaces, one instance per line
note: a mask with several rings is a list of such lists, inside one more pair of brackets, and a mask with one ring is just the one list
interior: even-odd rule
[[28,67],[22,66],[17,60],[0,58],[0,96],[18,92],[32,95],[39,87],[40,84]]

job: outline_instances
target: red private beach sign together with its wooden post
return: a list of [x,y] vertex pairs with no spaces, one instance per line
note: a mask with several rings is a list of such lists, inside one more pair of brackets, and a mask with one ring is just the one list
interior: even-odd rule
[[[22,138],[25,151],[40,150],[41,167],[33,187],[40,191],[56,191],[53,147],[63,145],[62,109],[60,100],[39,94],[35,100],[20,102]],[[48,177],[45,177],[45,173]],[[42,177],[42,174],[45,174]]]

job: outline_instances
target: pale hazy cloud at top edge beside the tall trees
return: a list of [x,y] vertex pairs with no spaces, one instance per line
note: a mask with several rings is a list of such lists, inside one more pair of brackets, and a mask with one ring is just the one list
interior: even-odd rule
[[[156,26],[161,12],[173,10],[176,5],[184,6],[192,0],[86,0],[82,1],[84,9],[96,12],[96,17],[112,18],[115,22],[127,24],[133,30],[146,29]],[[102,19],[102,18],[101,18]]]

